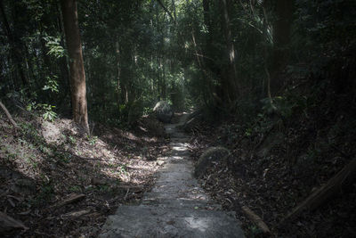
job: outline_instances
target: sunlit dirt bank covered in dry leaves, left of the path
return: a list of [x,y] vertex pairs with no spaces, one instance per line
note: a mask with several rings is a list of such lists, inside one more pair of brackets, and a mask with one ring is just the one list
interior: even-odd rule
[[121,204],[150,190],[167,150],[164,128],[150,117],[135,131],[92,125],[81,135],[70,119],[0,114],[0,214],[15,223],[3,237],[96,237]]

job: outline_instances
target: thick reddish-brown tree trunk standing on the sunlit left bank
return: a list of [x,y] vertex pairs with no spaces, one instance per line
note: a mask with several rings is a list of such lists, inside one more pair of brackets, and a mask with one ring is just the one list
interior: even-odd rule
[[77,20],[77,1],[61,0],[64,32],[69,53],[70,87],[74,121],[89,133],[85,70]]

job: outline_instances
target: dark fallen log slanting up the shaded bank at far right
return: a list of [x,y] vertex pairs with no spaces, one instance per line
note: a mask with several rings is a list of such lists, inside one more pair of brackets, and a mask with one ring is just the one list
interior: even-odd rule
[[354,180],[356,176],[356,160],[353,159],[344,166],[335,176],[328,180],[328,183],[322,185],[319,189],[312,192],[302,203],[295,207],[279,225],[284,224],[285,221],[291,220],[298,216],[304,209],[317,209],[324,202],[328,201],[336,193]]

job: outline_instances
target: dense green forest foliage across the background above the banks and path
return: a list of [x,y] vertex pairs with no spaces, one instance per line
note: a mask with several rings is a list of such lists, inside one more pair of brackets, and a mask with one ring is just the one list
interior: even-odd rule
[[[292,37],[282,49],[274,48],[277,2],[231,1],[228,27],[235,47],[236,81],[243,91],[231,102],[223,91],[231,71],[222,5],[206,3],[207,12],[202,1],[164,1],[176,15],[172,21],[155,1],[79,1],[90,118],[132,127],[155,103],[170,100],[174,110],[206,104],[213,113],[215,107],[223,111],[219,115],[245,122],[259,112],[290,119],[301,111],[306,115],[311,106],[310,95],[286,95],[285,89],[303,80],[320,78],[314,80],[320,91],[347,85],[351,94],[352,78],[346,74],[354,68],[354,1],[296,0],[295,14],[286,20],[291,22]],[[37,102],[26,103],[28,110],[37,108],[44,119],[53,120],[56,113],[69,111],[70,102],[68,62],[63,57],[68,55],[58,5],[36,0],[3,4],[14,38],[3,34],[0,43],[4,78],[0,91],[22,103]],[[275,50],[290,56],[286,68],[276,74],[271,71]],[[287,85],[278,93],[271,85],[272,100],[263,99],[265,68],[271,71],[271,80],[280,78]],[[286,74],[279,77],[280,72]],[[293,80],[287,82],[290,76]],[[225,102],[218,102],[219,97]]]

